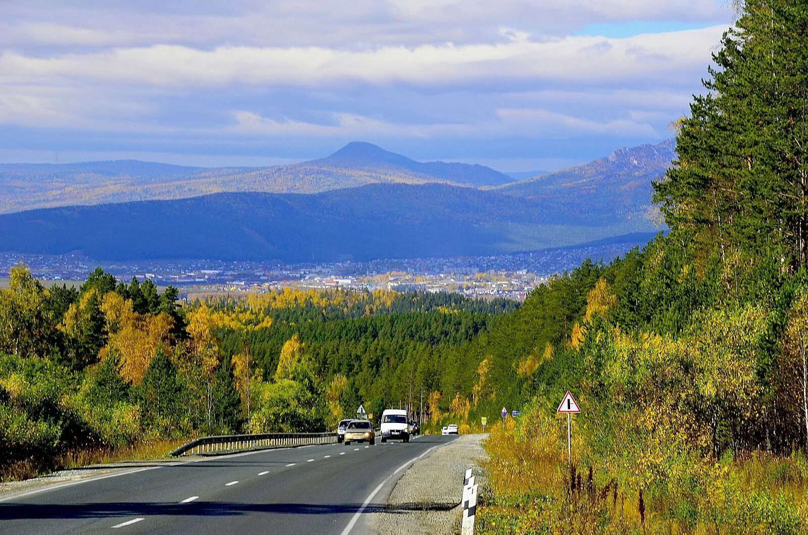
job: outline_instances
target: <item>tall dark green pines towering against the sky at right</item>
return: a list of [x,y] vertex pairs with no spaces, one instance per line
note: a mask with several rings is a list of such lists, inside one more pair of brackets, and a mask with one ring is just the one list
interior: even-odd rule
[[747,0],[680,124],[677,165],[655,183],[675,239],[808,259],[808,9]]

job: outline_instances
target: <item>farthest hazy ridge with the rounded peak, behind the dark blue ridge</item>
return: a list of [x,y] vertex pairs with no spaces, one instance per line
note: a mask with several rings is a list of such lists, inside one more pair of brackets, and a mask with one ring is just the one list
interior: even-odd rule
[[183,199],[218,192],[318,193],[371,183],[498,186],[513,179],[490,167],[416,162],[354,141],[326,158],[271,167],[187,167],[124,160],[0,164],[0,213],[72,204]]

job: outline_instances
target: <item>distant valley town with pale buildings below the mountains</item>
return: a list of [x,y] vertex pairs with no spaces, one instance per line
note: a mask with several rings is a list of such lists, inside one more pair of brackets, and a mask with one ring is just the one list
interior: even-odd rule
[[[610,262],[635,244],[554,249],[514,255],[437,259],[378,259],[370,262],[295,264],[162,260],[96,262],[82,255],[0,253],[5,274],[23,262],[40,280],[83,280],[96,266],[119,280],[150,279],[172,284],[184,296],[209,293],[267,292],[283,288],[398,290],[460,293],[467,297],[522,300],[549,277],[589,258]],[[2,276],[2,275],[0,275]]]

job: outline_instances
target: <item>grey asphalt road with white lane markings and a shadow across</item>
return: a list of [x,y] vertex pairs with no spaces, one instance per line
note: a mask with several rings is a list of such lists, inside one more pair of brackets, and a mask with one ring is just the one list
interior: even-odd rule
[[57,484],[2,499],[0,533],[371,533],[368,513],[410,463],[455,438],[235,453]]

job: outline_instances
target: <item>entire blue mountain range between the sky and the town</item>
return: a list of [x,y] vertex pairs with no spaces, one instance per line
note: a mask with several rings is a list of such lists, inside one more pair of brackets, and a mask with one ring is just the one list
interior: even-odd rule
[[[6,165],[0,182],[17,184],[18,206],[61,204],[74,192],[87,202],[0,215],[0,251],[296,262],[575,246],[659,230],[650,182],[674,157],[667,141],[516,182],[485,166],[415,162],[368,143],[262,169]],[[20,195],[19,184],[34,193]],[[215,193],[200,195],[208,190]],[[127,202],[89,204],[116,197]]]

